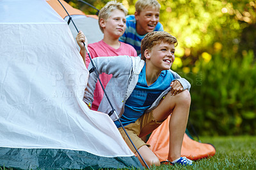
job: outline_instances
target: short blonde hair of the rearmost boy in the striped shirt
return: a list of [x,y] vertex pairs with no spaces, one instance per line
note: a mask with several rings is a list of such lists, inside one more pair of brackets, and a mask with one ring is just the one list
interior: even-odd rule
[[140,14],[140,12],[148,6],[156,8],[157,10],[160,10],[161,8],[161,5],[157,2],[157,0],[138,0],[135,3],[135,11]]

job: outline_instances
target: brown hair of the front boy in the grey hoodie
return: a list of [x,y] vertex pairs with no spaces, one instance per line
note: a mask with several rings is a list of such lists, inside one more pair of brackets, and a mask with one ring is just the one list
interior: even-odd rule
[[177,38],[165,31],[153,31],[151,33],[147,33],[147,35],[141,40],[141,59],[146,60],[144,56],[146,49],[152,50],[152,47],[160,44],[161,42],[173,43],[175,47],[178,45]]

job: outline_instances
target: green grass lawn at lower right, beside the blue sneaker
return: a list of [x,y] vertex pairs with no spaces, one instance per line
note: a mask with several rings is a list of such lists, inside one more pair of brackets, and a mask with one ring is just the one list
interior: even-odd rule
[[211,143],[216,155],[198,160],[193,167],[160,166],[152,169],[256,169],[256,137],[200,137],[203,143]]

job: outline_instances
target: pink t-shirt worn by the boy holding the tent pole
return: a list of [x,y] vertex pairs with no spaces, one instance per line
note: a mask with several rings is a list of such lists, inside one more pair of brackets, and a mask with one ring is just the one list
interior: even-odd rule
[[[97,57],[106,57],[106,56],[137,56],[136,50],[129,44],[120,42],[121,45],[118,49],[114,49],[113,47],[110,47],[107,43],[103,42],[101,40],[97,43],[90,43],[88,45],[88,50],[90,52],[91,58],[97,58]],[[90,63],[90,58],[88,54],[86,54],[86,67],[88,68],[88,65]],[[106,88],[109,80],[111,79],[112,75],[108,75],[106,73],[102,73],[100,75],[100,81],[102,82],[104,88]],[[104,96],[104,91],[100,86],[99,81],[96,83],[95,91],[94,91],[94,97],[93,97],[93,103],[92,103],[92,110],[97,111],[98,107],[100,105],[100,102]]]

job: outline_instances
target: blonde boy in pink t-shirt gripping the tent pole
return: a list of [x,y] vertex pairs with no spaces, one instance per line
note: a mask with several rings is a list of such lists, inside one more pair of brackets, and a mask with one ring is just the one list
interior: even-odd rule
[[[122,3],[116,3],[116,1],[109,1],[99,12],[99,26],[104,33],[104,37],[100,42],[91,43],[88,45],[88,50],[90,51],[91,58],[104,57],[104,56],[137,56],[136,50],[127,43],[120,42],[118,39],[124,34],[126,29],[126,19],[127,9]],[[81,48],[80,54],[84,59],[86,67],[90,63],[90,58],[86,53],[86,49],[83,42],[86,38],[82,31],[76,36],[76,41]],[[102,73],[100,75],[100,81],[104,88],[108,84],[112,75],[107,75]],[[99,81],[96,84],[94,91],[94,101],[92,105],[92,110],[97,111],[100,101],[104,96],[103,89],[100,86]]]

